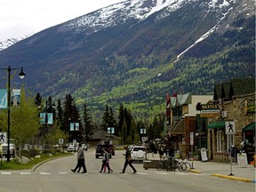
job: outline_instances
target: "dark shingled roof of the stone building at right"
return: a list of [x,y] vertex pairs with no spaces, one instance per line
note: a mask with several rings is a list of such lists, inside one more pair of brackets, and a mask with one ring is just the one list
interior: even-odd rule
[[255,92],[255,78],[233,78],[229,82],[215,84],[213,100],[231,99],[252,92]]

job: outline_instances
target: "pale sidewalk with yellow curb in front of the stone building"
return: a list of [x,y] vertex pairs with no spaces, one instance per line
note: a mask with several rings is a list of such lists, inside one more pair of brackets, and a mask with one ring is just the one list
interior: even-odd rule
[[[148,160],[159,160],[159,155],[155,154],[153,157],[151,153],[148,154]],[[209,174],[215,177],[220,177],[228,180],[237,180],[242,182],[256,183],[255,173],[256,168],[252,164],[246,167],[239,167],[237,164],[216,163],[216,162],[201,162],[188,161],[193,163],[193,168],[190,172],[199,174]],[[232,174],[230,174],[232,173]]]

